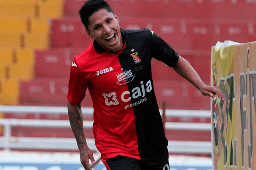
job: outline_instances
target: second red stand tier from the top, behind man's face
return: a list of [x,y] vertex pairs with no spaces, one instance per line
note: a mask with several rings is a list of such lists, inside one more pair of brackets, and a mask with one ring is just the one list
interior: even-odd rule
[[[176,50],[210,51],[217,41],[232,39],[232,41],[245,43],[255,39],[255,21],[252,20],[120,17],[120,26],[123,29],[151,29]],[[84,48],[91,42],[92,39],[86,35],[78,17],[52,21],[52,48]]]

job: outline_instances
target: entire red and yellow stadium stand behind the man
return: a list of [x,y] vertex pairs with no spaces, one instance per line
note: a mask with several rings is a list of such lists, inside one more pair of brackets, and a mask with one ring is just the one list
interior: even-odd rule
[[[123,29],[152,29],[187,59],[210,84],[210,51],[217,41],[255,41],[254,1],[107,0]],[[66,106],[70,64],[92,39],[78,10],[84,0],[0,2],[0,104]],[[227,10],[228,9],[228,10]],[[2,57],[4,56],[4,57]],[[176,72],[152,60],[158,106],[210,110],[210,99]],[[82,102],[92,107],[89,92]],[[54,117],[56,116],[56,117]],[[88,115],[87,115],[88,116]],[[67,115],[12,114],[4,118],[68,120]],[[85,118],[92,120],[92,115]],[[167,117],[172,122],[210,123],[210,117]],[[63,133],[65,132],[65,133]],[[86,129],[93,138],[91,129]],[[180,135],[182,134],[182,135]],[[74,137],[70,129],[13,127],[14,137]],[[168,140],[210,141],[210,131],[166,131]]]

